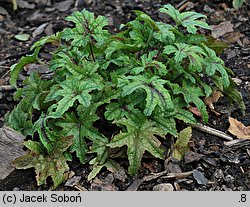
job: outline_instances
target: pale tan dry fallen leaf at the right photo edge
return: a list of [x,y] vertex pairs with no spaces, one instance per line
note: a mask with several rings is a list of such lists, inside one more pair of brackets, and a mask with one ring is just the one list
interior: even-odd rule
[[237,138],[250,139],[250,126],[246,127],[238,120],[229,117],[230,127],[228,131]]

